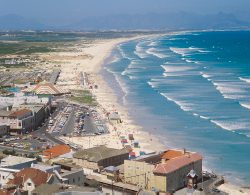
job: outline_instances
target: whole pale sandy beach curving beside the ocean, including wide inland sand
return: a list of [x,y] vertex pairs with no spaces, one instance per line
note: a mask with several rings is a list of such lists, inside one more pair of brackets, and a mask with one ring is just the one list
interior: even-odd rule
[[[99,136],[86,137],[61,137],[61,139],[74,142],[82,148],[89,148],[98,145],[106,145],[111,148],[122,148],[120,137],[124,136],[128,139],[129,134],[133,134],[136,141],[139,142],[139,148],[133,148],[133,151],[138,155],[140,151],[153,152],[167,149],[156,136],[145,132],[142,127],[138,126],[135,121],[129,116],[126,107],[118,103],[118,97],[113,89],[109,87],[100,71],[103,68],[105,60],[111,55],[112,50],[119,44],[134,39],[142,39],[144,36],[134,38],[120,38],[112,40],[96,40],[88,45],[81,46],[79,42],[75,47],[77,52],[60,52],[44,56],[45,58],[60,61],[61,74],[58,80],[58,85],[74,90],[82,89],[79,85],[79,74],[85,72],[88,74],[89,83],[97,85],[97,89],[92,89],[91,92],[96,97],[98,106],[96,110],[107,121],[109,134]],[[111,59],[112,60],[112,59]],[[48,64],[48,67],[51,64]],[[45,67],[46,68],[46,67]],[[118,112],[122,123],[111,123],[107,120],[107,112]],[[128,144],[131,144],[130,141]],[[239,188],[231,184],[224,184],[220,189],[232,194],[250,194],[248,189]]]

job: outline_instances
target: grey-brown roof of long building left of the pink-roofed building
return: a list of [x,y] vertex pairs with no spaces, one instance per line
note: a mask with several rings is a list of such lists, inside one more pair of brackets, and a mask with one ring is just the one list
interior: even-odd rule
[[91,162],[98,162],[102,159],[107,159],[117,155],[128,154],[127,149],[107,148],[106,146],[98,146],[81,150],[73,154],[74,158],[84,159]]

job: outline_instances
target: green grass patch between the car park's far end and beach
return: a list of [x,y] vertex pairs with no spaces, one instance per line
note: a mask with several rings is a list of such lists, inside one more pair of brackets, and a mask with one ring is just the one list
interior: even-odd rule
[[95,98],[88,90],[74,90],[72,94],[73,96],[70,97],[71,101],[90,106],[97,105]]

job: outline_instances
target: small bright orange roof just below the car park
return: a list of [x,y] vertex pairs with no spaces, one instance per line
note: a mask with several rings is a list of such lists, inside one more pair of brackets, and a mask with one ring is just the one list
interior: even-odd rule
[[43,155],[47,158],[55,158],[71,151],[68,145],[56,145],[48,150],[43,151]]

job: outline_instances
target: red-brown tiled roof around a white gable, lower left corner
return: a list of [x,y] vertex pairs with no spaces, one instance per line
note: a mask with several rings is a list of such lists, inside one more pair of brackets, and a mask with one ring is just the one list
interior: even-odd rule
[[47,183],[51,174],[43,172],[39,169],[25,168],[20,172],[14,174],[14,179],[10,180],[8,184],[22,185],[27,179],[31,179],[36,186]]

